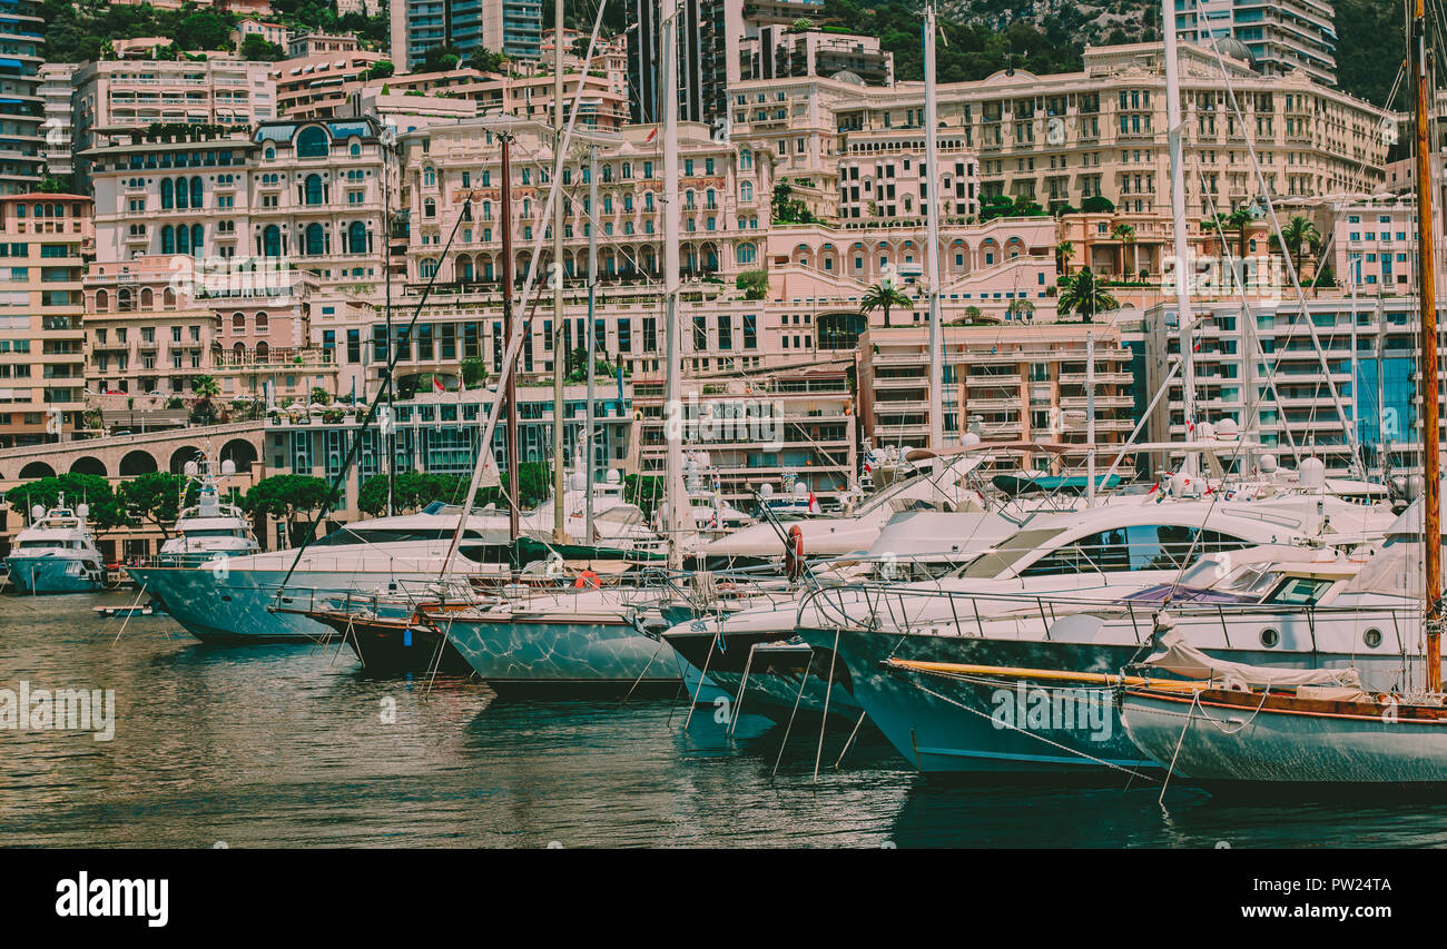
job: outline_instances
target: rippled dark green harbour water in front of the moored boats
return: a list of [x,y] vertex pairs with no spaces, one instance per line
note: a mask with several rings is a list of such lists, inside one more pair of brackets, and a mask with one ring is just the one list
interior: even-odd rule
[[[667,700],[493,702],[350,652],[216,648],[109,593],[0,597],[0,687],[114,689],[116,735],[0,731],[0,846],[1422,846],[1447,806],[929,780],[881,738]],[[383,713],[395,706],[395,722]]]

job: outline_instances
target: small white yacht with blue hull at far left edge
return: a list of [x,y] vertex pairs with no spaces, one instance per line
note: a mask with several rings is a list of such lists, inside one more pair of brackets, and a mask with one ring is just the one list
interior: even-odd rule
[[30,527],[14,538],[6,557],[10,582],[22,593],[84,593],[98,590],[106,583],[106,569],[96,535],[85,518],[87,506],[74,511],[59,503],[46,511],[42,505],[30,509]]

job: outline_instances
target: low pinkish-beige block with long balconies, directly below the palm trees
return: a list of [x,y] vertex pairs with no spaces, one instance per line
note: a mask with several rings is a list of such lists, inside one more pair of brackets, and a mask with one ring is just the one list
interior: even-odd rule
[[[1095,441],[1124,441],[1136,422],[1133,356],[1121,327],[1101,321],[946,325],[945,444],[972,431],[984,440],[1079,446],[1022,460],[1022,467],[1059,472],[1084,460],[1087,337],[1095,357]],[[860,353],[860,420],[871,446],[928,446],[928,327],[871,327]]]

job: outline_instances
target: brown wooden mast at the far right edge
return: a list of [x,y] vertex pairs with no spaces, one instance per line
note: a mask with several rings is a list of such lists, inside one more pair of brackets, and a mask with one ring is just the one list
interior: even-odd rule
[[1428,136],[1431,64],[1424,0],[1412,0],[1412,77],[1417,106],[1417,256],[1421,262],[1422,320],[1422,563],[1425,573],[1427,691],[1443,687],[1441,427],[1437,401],[1437,240],[1433,214],[1433,148]]

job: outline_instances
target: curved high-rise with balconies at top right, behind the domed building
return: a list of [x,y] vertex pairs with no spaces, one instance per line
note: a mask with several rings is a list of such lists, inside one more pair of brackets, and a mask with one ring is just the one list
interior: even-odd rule
[[1176,1],[1176,36],[1201,46],[1236,41],[1266,75],[1305,69],[1318,82],[1337,84],[1337,33],[1331,0]]

